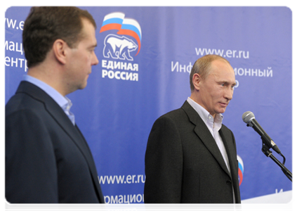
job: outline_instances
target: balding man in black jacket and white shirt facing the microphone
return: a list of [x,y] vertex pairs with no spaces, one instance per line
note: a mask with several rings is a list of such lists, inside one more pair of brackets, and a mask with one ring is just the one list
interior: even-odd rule
[[235,138],[221,115],[235,84],[225,58],[194,63],[191,96],[154,122],[147,141],[147,211],[241,211]]

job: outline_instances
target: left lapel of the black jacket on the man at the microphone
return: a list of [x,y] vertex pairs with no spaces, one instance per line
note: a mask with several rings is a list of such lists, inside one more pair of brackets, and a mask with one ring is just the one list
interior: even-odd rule
[[209,128],[203,122],[202,118],[198,115],[196,110],[194,110],[194,108],[192,108],[192,106],[190,106],[190,104],[187,103],[187,101],[185,101],[182,108],[183,110],[185,110],[185,113],[187,113],[190,122],[196,125],[196,127],[194,128],[194,132],[197,134],[197,136],[199,136],[199,139],[202,140],[202,142],[204,143],[206,148],[211,152],[213,157],[216,158],[220,167],[222,167],[222,169],[231,177],[230,172],[227,170],[227,166],[225,164],[223,156],[220,153],[220,149],[218,148],[216,141],[213,139],[211,132],[209,132]]

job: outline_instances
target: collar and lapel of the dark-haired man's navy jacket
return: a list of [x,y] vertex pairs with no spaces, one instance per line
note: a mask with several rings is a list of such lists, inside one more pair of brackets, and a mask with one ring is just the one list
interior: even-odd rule
[[64,129],[64,131],[70,136],[72,141],[74,141],[74,143],[77,145],[81,153],[84,155],[84,158],[86,158],[88,167],[93,177],[93,181],[99,193],[98,198],[100,199],[101,205],[104,206],[105,203],[99,186],[98,174],[95,169],[95,163],[93,162],[93,157],[91,155],[91,151],[88,148],[86,140],[84,139],[84,136],[81,134],[79,129],[77,127],[74,127],[69,117],[67,117],[64,110],[60,108],[58,103],[56,103],[53,100],[53,98],[51,98],[51,96],[48,96],[48,94],[46,94],[46,92],[40,89],[39,87],[29,82],[22,81],[16,93],[20,92],[26,93],[32,96],[33,98],[37,99],[38,101],[43,102],[48,113],[51,114],[51,116],[55,119],[57,124],[59,124],[60,127]]

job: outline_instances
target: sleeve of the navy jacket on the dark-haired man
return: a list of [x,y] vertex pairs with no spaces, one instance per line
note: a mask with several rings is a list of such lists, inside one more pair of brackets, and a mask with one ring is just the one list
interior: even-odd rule
[[58,210],[55,154],[46,122],[32,110],[4,118],[4,210]]

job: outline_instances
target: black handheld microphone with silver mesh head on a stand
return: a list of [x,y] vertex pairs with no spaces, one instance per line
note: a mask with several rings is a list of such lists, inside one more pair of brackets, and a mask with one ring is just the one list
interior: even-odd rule
[[270,148],[272,148],[274,151],[276,151],[279,154],[281,153],[279,151],[279,148],[275,144],[275,142],[272,141],[270,136],[268,136],[268,134],[266,134],[264,129],[262,127],[260,127],[260,124],[255,119],[255,115],[253,115],[253,113],[251,111],[246,111],[242,115],[242,120],[244,120],[244,122],[246,122],[246,124],[247,124],[246,126],[253,127],[253,129],[261,136],[261,139],[263,139],[265,141],[265,143],[268,143],[268,146],[270,146]]

